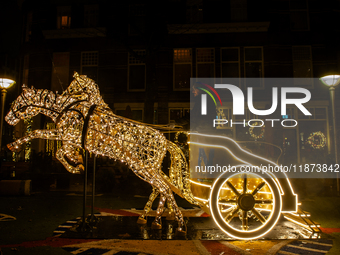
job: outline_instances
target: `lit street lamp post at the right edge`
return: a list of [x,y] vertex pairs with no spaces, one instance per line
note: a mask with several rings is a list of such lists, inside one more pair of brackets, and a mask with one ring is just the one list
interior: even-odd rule
[[[340,83],[340,75],[327,75],[320,78],[321,82],[326,86],[329,86],[329,92],[331,94],[332,103],[332,118],[333,118],[333,143],[334,143],[334,154],[335,164],[338,164],[338,145],[336,143],[336,119],[335,119],[335,86]],[[339,184],[339,173],[336,173],[336,190],[337,194],[340,195],[340,184]]]

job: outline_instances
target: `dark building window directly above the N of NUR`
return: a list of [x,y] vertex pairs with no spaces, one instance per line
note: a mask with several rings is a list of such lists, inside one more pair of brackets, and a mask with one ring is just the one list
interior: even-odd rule
[[222,48],[221,49],[221,76],[240,77],[240,49]]

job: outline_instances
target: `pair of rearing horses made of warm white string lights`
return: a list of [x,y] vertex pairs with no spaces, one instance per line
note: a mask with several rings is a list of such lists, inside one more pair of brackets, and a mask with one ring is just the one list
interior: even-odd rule
[[[56,123],[56,128],[34,130],[9,144],[8,148],[12,151],[19,150],[22,144],[36,138],[60,140],[63,146],[56,152],[56,157],[71,173],[79,173],[84,169],[79,149],[121,160],[153,187],[153,193],[138,223],[146,223],[146,214],[150,211],[153,200],[160,194],[152,228],[161,228],[161,215],[165,209],[164,203],[168,200],[169,209],[174,212],[178,221],[177,230],[186,232],[183,216],[172,190],[178,191],[176,193],[193,204],[197,205],[198,202],[190,191],[188,167],[182,151],[166,140],[160,131],[113,114],[93,80],[77,73],[74,77],[61,95],[23,86],[23,92],[14,102],[6,121],[10,125],[16,125],[20,119],[42,113]],[[171,154],[169,177],[161,171],[166,151]]]

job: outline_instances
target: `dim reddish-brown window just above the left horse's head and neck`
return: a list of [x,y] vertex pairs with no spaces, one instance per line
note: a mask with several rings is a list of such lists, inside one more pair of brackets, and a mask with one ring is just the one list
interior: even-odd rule
[[70,53],[55,52],[53,53],[53,69],[51,89],[54,91],[64,90],[69,84],[70,72]]

